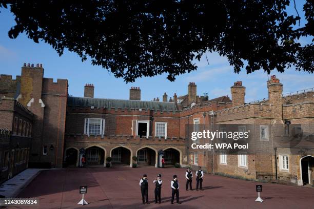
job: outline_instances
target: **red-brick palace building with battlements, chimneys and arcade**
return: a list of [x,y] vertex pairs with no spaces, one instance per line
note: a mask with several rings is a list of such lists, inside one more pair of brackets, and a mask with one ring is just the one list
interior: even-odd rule
[[[2,101],[13,98],[33,114],[29,166],[79,166],[86,155],[88,165],[106,165],[111,157],[113,166],[132,166],[136,156],[138,165],[157,167],[163,155],[168,165],[202,166],[208,173],[313,183],[312,90],[282,95],[282,84],[272,76],[267,81],[268,99],[262,101],[245,102],[241,81],[230,88],[232,100],[228,95],[199,96],[194,82],[188,84],[186,95],[174,93],[168,99],[165,92],[162,101],[159,97],[143,101],[141,89],[132,87],[129,99],[122,100],[94,98],[95,87],[89,83],[84,97],[69,96],[67,80],[53,82],[43,75],[41,65],[28,64],[16,79],[0,77]],[[191,149],[192,130],[223,129],[228,124],[242,124],[241,130],[246,124],[256,127],[254,140],[267,153],[229,155]],[[296,134],[305,143],[293,148],[274,143],[277,138],[291,141]]]

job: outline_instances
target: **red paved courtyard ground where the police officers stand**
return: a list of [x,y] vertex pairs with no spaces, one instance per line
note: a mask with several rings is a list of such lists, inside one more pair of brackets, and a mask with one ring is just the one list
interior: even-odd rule
[[[146,173],[149,180],[150,205],[143,205],[139,180]],[[154,204],[156,174],[163,175],[162,204]],[[170,204],[170,180],[173,174],[181,185],[179,204]],[[20,198],[37,198],[37,208],[314,208],[314,189],[261,183],[263,203],[257,198],[257,182],[205,174],[203,191],[185,191],[184,169],[89,168],[43,171],[19,194]],[[90,203],[77,205],[80,185],[88,186],[85,196]],[[193,179],[195,189],[195,179]],[[33,208],[29,206],[18,208]]]

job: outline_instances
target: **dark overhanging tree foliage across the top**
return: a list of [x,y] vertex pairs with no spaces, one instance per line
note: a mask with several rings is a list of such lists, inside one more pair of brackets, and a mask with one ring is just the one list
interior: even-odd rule
[[[59,55],[65,49],[82,60],[132,82],[142,76],[175,76],[197,69],[193,63],[206,52],[228,58],[234,72],[251,73],[288,67],[313,73],[314,6],[303,6],[300,17],[288,16],[288,0],[0,0],[10,8],[16,25],[10,38],[25,32],[36,43],[44,40]],[[293,2],[292,2],[293,4]]]

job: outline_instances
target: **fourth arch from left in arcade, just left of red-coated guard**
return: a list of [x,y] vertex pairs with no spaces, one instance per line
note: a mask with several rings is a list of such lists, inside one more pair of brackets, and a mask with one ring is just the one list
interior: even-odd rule
[[138,165],[139,166],[156,166],[156,151],[145,147],[141,148],[136,152],[136,156],[138,157]]

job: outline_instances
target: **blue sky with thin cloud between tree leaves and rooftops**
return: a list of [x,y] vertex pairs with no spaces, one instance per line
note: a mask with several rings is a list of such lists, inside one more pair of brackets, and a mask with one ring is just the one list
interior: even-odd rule
[[[296,1],[297,9],[301,16],[301,24],[304,25],[303,1]],[[44,66],[44,76],[53,78],[66,78],[69,81],[69,94],[73,96],[84,95],[85,83],[93,83],[94,96],[97,98],[128,99],[130,87],[140,87],[142,100],[162,98],[167,92],[168,98],[187,94],[189,82],[195,82],[198,86],[198,95],[208,93],[209,98],[222,95],[230,95],[230,87],[237,80],[243,81],[246,87],[246,102],[268,97],[266,81],[267,74],[262,70],[247,75],[244,70],[239,74],[233,73],[226,58],[218,54],[207,54],[209,64],[205,57],[201,61],[195,61],[198,70],[178,76],[174,82],[166,79],[166,74],[152,78],[139,78],[134,83],[125,83],[121,78],[115,78],[106,69],[92,66],[90,61],[82,62],[75,53],[65,52],[61,57],[44,42],[36,44],[28,39],[25,34],[20,34],[16,39],[8,37],[9,29],[15,25],[14,16],[8,9],[1,8],[0,13],[0,73],[11,74],[15,78],[21,74],[21,67],[26,63],[41,63]],[[288,8],[288,13],[297,15],[293,7]],[[311,43],[312,37],[300,39],[301,44]],[[296,72],[288,69],[284,73],[273,71],[271,74],[281,80],[284,85],[284,93],[303,90],[314,87],[314,74]]]

